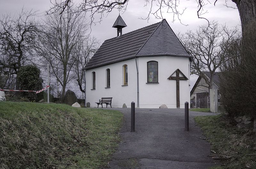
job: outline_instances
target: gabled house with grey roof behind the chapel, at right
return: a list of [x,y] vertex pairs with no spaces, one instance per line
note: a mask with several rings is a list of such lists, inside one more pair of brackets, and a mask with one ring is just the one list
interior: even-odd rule
[[[204,74],[209,78],[211,76],[210,72],[204,72]],[[212,80],[212,88],[218,90],[218,106],[220,106],[220,72],[215,72]],[[210,78],[209,78],[210,79]],[[210,108],[210,96],[208,84],[205,82],[203,77],[198,77],[195,85],[190,91],[190,107],[191,108]]]

